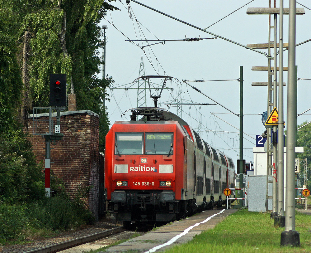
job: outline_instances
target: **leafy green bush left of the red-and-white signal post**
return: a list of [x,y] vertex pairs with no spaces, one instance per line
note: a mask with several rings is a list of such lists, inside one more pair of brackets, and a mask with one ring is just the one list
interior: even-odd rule
[[20,129],[1,134],[1,199],[41,199],[45,196],[41,165],[35,161],[31,143]]

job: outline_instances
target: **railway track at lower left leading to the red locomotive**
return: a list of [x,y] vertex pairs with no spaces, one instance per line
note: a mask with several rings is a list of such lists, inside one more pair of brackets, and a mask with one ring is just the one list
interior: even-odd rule
[[78,245],[82,245],[85,244],[87,242],[92,242],[107,236],[111,236],[113,234],[118,234],[120,232],[126,231],[126,229],[124,228],[124,226],[118,226],[115,228],[111,228],[102,232],[98,232],[89,236],[83,236],[83,237],[79,237],[76,239],[72,239],[69,241],[63,241],[63,242],[59,242],[56,244],[52,244],[49,246],[45,246],[42,248],[38,248],[35,250],[31,250],[31,251],[25,251],[24,253],[49,253],[49,252],[59,252],[59,251],[63,251],[65,249],[69,249],[69,248],[73,248],[75,246]]

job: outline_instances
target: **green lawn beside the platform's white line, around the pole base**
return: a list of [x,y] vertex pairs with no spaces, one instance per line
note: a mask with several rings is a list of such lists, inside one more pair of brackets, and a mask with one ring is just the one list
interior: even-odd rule
[[300,247],[281,247],[284,228],[275,227],[270,213],[240,210],[229,215],[214,229],[203,231],[188,243],[173,246],[165,253],[175,252],[311,252],[311,216],[296,212],[296,231]]

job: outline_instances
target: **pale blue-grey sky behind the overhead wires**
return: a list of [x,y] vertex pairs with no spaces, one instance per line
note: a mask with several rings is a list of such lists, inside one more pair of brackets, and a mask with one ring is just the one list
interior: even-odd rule
[[[246,11],[248,7],[269,7],[269,0],[250,1],[140,0],[139,2],[196,27],[202,29],[209,27],[207,31],[243,45],[268,43],[269,15],[247,15]],[[248,2],[250,3],[247,4]],[[311,8],[310,0],[298,2]],[[243,159],[253,161],[252,148],[255,146],[256,135],[265,131],[260,114],[267,110],[268,91],[267,86],[252,86],[251,84],[252,82],[267,82],[268,73],[267,71],[252,71],[252,66],[268,66],[268,58],[219,37],[215,39],[213,35],[135,2],[131,1],[130,5],[127,5],[125,0],[121,0],[112,2],[112,4],[120,11],[107,12],[106,20],[103,19],[100,24],[101,27],[104,24],[108,27],[106,29],[106,75],[111,76],[115,81],[114,88],[122,88],[108,90],[110,101],[106,101],[106,107],[111,124],[118,120],[130,120],[130,112],[123,116],[121,114],[137,107],[137,89],[126,90],[124,88],[137,87],[137,83],[133,85],[133,81],[139,77],[141,59],[143,59],[144,75],[169,75],[180,81],[174,81],[174,79],[172,82],[167,81],[167,89],[163,90],[158,100],[158,107],[177,114],[176,106],[167,107],[165,104],[176,104],[177,101],[183,104],[215,104],[208,97],[218,103],[218,105],[207,106],[182,105],[181,118],[188,122],[207,143],[235,160],[239,154],[239,118],[230,111],[239,114],[239,82],[236,79],[240,75],[240,66],[243,66],[243,132],[245,133],[243,135],[245,138],[243,139]],[[276,1],[276,7],[279,7],[279,4],[279,1]],[[289,1],[284,1],[284,7],[289,7]],[[303,6],[297,3],[296,7]],[[311,38],[311,11],[309,9],[304,8],[304,15],[296,15],[296,44]],[[229,15],[231,12],[233,14]],[[229,16],[226,17],[227,15]],[[220,19],[222,20],[219,21]],[[215,22],[217,23],[214,24]],[[273,24],[272,16],[271,25]],[[288,42],[288,26],[288,15],[284,15],[284,42]],[[278,42],[279,15],[276,27]],[[125,41],[183,40],[196,37],[202,40],[165,41],[164,45],[158,43],[159,41]],[[273,38],[274,30],[271,29],[271,41],[274,40]],[[154,43],[158,44],[146,46]],[[142,46],[144,46],[143,49]],[[268,52],[267,49],[259,49],[259,51]],[[273,54],[273,49],[271,53]],[[278,61],[277,57],[277,66],[279,66]],[[311,42],[296,47],[295,62],[298,66],[298,78],[300,78],[297,83],[297,113],[301,114],[311,108]],[[273,61],[271,65],[273,66]],[[288,66],[288,50],[284,52],[284,66]],[[208,97],[191,88],[183,80],[205,80],[206,82],[188,83],[197,87]],[[286,122],[287,71],[284,71],[284,82],[286,82],[284,87],[284,120]],[[159,80],[153,80],[153,84],[155,87],[161,88],[162,86]],[[150,98],[149,90],[146,94],[147,106],[153,107],[154,102]],[[297,118],[297,124],[311,121],[310,114],[311,110],[300,115]]]

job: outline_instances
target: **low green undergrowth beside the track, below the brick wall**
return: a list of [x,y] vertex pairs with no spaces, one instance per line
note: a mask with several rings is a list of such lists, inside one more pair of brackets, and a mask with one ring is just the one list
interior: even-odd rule
[[0,242],[23,242],[40,230],[51,234],[93,224],[92,213],[84,207],[79,196],[82,195],[71,200],[66,192],[60,191],[54,197],[23,203],[5,199],[0,210]]

